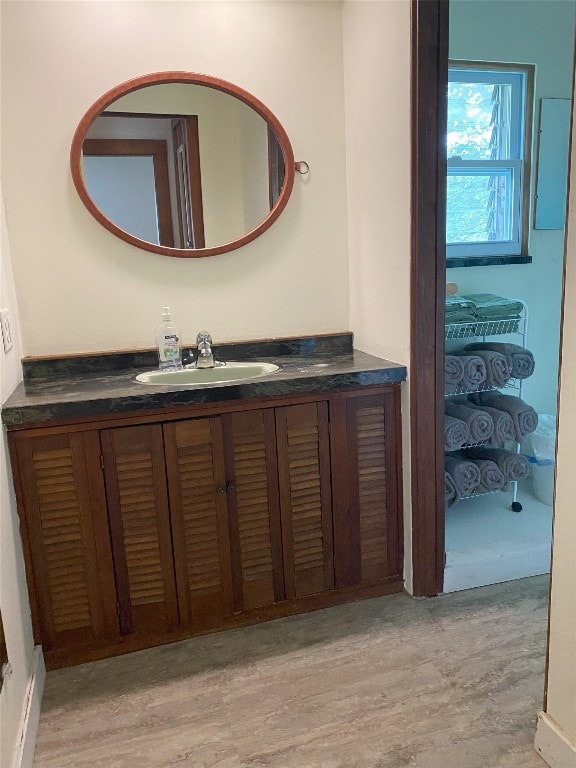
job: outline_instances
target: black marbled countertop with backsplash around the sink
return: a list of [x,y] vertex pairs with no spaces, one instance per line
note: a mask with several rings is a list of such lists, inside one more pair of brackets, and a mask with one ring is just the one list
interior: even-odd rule
[[[306,394],[370,386],[402,381],[405,366],[398,365],[364,352],[347,350],[348,341],[337,338],[336,344],[292,344],[289,349],[263,344],[252,344],[250,354],[236,356],[242,350],[238,345],[220,351],[221,360],[258,359],[274,362],[280,370],[241,382],[181,385],[148,385],[135,380],[138,373],[156,367],[155,355],[131,353],[123,355],[121,363],[114,356],[87,356],[91,368],[78,365],[74,358],[52,361],[43,366],[34,361],[26,365],[25,380],[21,382],[2,406],[2,421],[8,429],[46,424],[50,421],[70,421],[87,417],[110,417],[138,411],[158,410],[174,406],[192,406],[204,403],[229,402],[260,397]],[[258,354],[258,352],[275,354]],[[246,350],[244,350],[246,352]],[[106,361],[113,359],[113,365]],[[72,360],[72,363],[70,363]],[[154,361],[154,362],[152,362]],[[136,364],[135,364],[136,363]]]

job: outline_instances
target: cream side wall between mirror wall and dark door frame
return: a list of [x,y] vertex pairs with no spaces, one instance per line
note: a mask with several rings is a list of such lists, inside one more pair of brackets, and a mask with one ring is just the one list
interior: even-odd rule
[[[410,362],[410,3],[344,5],[350,314],[355,346]],[[405,573],[411,589],[410,416],[403,387]]]

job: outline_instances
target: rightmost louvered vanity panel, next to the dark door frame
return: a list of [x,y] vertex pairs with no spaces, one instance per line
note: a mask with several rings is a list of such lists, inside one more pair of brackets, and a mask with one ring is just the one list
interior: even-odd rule
[[401,578],[399,389],[331,402],[337,587]]

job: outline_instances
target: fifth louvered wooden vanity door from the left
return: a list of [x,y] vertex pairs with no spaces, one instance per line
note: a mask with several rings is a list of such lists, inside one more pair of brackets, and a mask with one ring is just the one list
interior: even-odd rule
[[286,597],[334,587],[328,404],[276,409]]

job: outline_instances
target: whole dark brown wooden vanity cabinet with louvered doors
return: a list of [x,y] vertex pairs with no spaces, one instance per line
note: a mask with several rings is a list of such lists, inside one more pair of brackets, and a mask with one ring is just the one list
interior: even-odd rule
[[399,591],[399,413],[382,385],[12,433],[48,666]]

